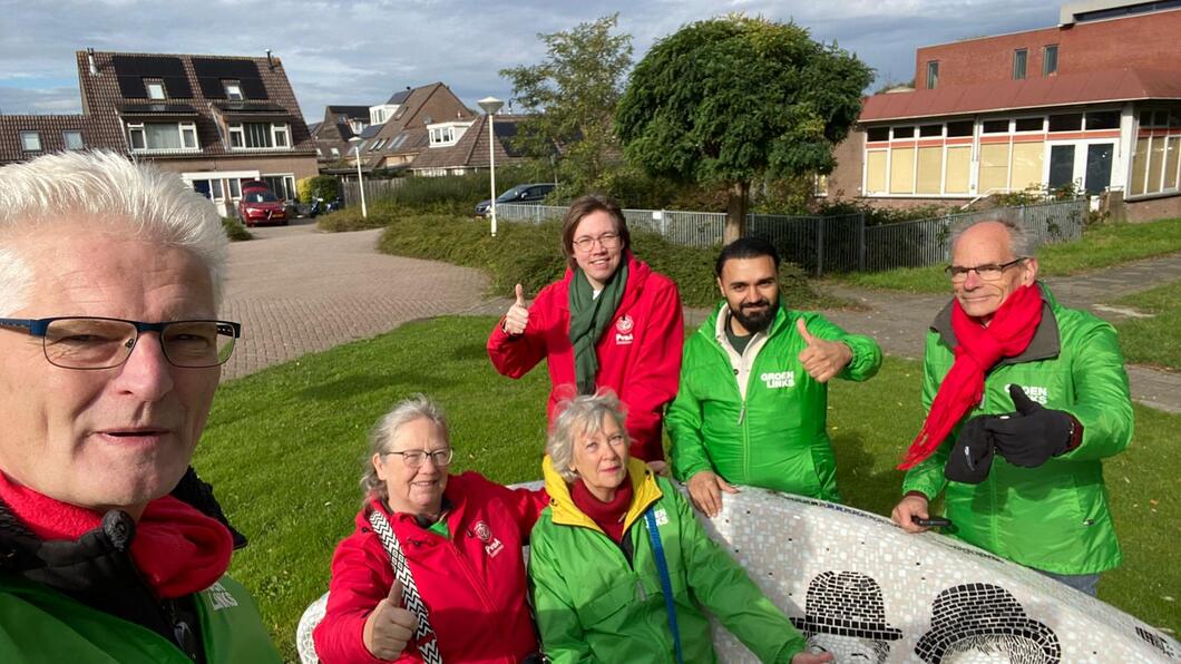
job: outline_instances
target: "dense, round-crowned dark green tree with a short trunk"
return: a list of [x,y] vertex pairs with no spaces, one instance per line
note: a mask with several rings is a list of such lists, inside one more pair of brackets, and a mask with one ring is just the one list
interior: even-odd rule
[[726,241],[745,230],[756,177],[827,174],[873,70],[795,24],[729,15],[657,41],[615,113],[629,161],[653,175],[725,184]]

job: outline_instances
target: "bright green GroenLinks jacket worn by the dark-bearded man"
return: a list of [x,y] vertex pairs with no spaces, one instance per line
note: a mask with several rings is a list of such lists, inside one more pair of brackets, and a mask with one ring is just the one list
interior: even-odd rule
[[821,339],[842,341],[853,359],[841,378],[866,380],[882,363],[869,337],[848,334],[817,313],[779,307],[766,333],[739,357],[725,337],[725,302],[685,341],[680,389],[665,423],[680,481],[713,470],[725,481],[840,502],[828,437],[828,386],[800,363],[803,318]]

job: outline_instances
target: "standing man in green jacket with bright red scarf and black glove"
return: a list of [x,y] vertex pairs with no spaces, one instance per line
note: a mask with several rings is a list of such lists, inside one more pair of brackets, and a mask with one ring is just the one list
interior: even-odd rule
[[1055,301],[1012,222],[952,233],[954,299],[927,333],[926,422],[901,468],[893,519],[926,527],[945,495],[960,539],[1091,595],[1120,565],[1103,458],[1133,411],[1115,330]]

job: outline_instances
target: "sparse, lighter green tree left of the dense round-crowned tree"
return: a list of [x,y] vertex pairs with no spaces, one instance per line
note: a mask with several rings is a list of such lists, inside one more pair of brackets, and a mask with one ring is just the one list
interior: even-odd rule
[[535,156],[557,148],[569,187],[592,187],[619,156],[613,121],[632,66],[632,37],[613,34],[619,14],[553,34],[539,33],[546,59],[501,70],[513,83],[514,100],[534,117],[518,147]]

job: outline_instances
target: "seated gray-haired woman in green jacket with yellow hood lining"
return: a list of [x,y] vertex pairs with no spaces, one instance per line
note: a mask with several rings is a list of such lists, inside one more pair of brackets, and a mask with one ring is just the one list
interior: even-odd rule
[[559,409],[542,463],[553,499],[529,584],[552,662],[716,662],[709,608],[763,662],[831,662],[711,540],[673,484],[628,455],[614,395]]

